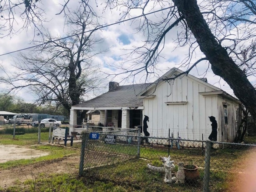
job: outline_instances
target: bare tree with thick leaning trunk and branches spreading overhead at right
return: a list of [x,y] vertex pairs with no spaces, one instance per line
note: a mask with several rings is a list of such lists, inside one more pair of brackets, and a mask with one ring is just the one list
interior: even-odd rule
[[[255,75],[256,4],[250,0],[172,0],[172,1],[107,1],[107,7],[123,10],[121,19],[130,12],[140,10],[142,17],[137,30],[143,30],[147,39],[143,46],[131,50],[128,62],[138,67],[129,72],[141,71],[145,63],[147,74],[154,73],[164,50],[168,34],[177,32],[177,47],[188,48],[180,66],[187,66],[187,74],[199,62],[208,60],[214,74],[223,78],[234,94],[256,118],[256,91],[248,80]],[[146,11],[161,8],[162,14],[150,17]],[[157,19],[156,19],[157,18]],[[137,19],[137,18],[136,18]],[[205,58],[192,63],[199,50]],[[174,48],[175,49],[175,48]],[[207,68],[206,63],[206,68]],[[165,79],[168,80],[168,79]]]

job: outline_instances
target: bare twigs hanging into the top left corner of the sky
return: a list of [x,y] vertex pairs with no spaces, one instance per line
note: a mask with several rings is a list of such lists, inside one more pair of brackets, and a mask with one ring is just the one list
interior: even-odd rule
[[[43,35],[42,28],[45,22],[52,20],[45,9],[52,1],[41,0],[0,0],[0,38],[13,36],[22,30],[33,28],[34,36]],[[62,14],[67,20],[70,17],[68,4],[75,4],[80,9],[94,12],[88,0],[72,1],[60,0],[56,4],[62,6],[61,10],[56,10],[56,16]]]

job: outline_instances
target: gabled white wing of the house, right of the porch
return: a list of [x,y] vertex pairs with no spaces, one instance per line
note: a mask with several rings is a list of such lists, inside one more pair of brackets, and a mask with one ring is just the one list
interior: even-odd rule
[[173,68],[139,94],[143,114],[149,117],[150,136],[208,140],[212,132],[209,116],[218,123],[217,141],[233,142],[238,124],[240,101],[223,90]]

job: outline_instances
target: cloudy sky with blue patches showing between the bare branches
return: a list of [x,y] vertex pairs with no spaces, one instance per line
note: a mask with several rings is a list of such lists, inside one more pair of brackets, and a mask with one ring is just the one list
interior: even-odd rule
[[[43,23],[44,28],[47,28],[53,35],[59,35],[62,37],[66,36],[66,32],[68,31],[68,27],[64,27],[64,17],[62,14],[56,15],[60,10],[62,9],[62,6],[60,6],[60,2],[58,0],[52,0],[52,1],[44,1],[43,8],[46,12],[46,17],[49,22]],[[105,4],[96,3],[97,1],[91,1],[91,6],[94,8],[94,11],[101,16],[102,18],[99,20],[99,23],[102,25],[109,25],[114,24],[118,22],[118,19],[120,18],[120,13],[122,12],[122,9],[114,9],[112,11],[110,10],[104,10]],[[77,1],[72,1],[69,4],[70,8],[75,8],[77,6]],[[153,7],[154,5],[151,5],[149,7]],[[167,5],[166,5],[167,7]],[[161,7],[155,6],[154,9],[148,9],[145,12],[152,12],[155,10],[160,10]],[[141,14],[140,10],[134,10],[130,14],[130,18],[139,16]],[[157,12],[155,14],[148,15],[148,18],[151,18],[154,20],[154,18],[157,18],[163,14],[163,12]],[[16,18],[18,25],[15,26],[16,28],[19,28],[22,24],[22,20],[20,18]],[[132,62],[124,62],[127,59],[127,56],[124,54],[128,53],[128,50],[132,50],[134,46],[140,46],[143,44],[143,41],[146,38],[146,34],[141,30],[137,31],[136,28],[139,26],[140,20],[130,20],[126,22],[122,22],[119,24],[114,24],[105,28],[102,28],[101,30],[98,30],[95,32],[95,36],[97,38],[102,39],[102,43],[96,45],[94,47],[95,50],[104,50],[108,49],[107,52],[104,52],[103,54],[96,55],[93,58],[93,62],[95,64],[98,64],[101,66],[102,71],[106,72],[107,74],[118,74],[122,72],[120,69],[116,69],[113,66],[121,66],[121,64],[124,65],[125,68],[131,68],[134,63]],[[115,81],[120,82],[121,85],[123,84],[131,84],[131,83],[144,83],[146,82],[154,82],[158,77],[162,76],[165,72],[167,72],[170,68],[173,67],[180,67],[180,64],[183,62],[184,58],[186,58],[188,54],[188,47],[181,47],[174,49],[177,44],[174,43],[174,41],[177,39],[177,34],[180,32],[180,28],[177,26],[174,28],[168,35],[166,36],[166,41],[164,44],[164,49],[161,52],[161,58],[159,59],[159,62],[156,66],[155,73],[150,75],[146,79],[145,72],[142,72],[140,74],[137,74],[134,78],[126,78],[128,74],[122,74],[119,76],[110,76],[103,84],[105,85],[105,88],[102,88],[97,94],[106,92],[108,90],[107,84],[108,81]],[[21,30],[17,34],[10,36],[6,36],[4,38],[0,39],[0,44],[2,45],[0,47],[0,55],[6,54],[9,52],[14,52],[16,50],[28,48],[32,46],[31,41],[34,37],[34,28],[29,27],[28,29]],[[6,54],[0,56],[0,63],[2,66],[4,66],[6,72],[9,76],[12,75],[14,72],[14,68],[12,68],[12,64],[15,60],[15,57],[18,56],[19,52],[14,52],[11,54]],[[197,50],[195,56],[191,60],[191,65],[196,62],[198,59],[204,57],[204,55]],[[186,70],[188,66],[180,68],[181,70]],[[207,72],[206,72],[207,71]],[[232,90],[230,90],[230,87],[228,84],[226,84],[223,80],[220,79],[220,77],[215,76],[208,64],[205,62],[201,62],[197,65],[196,68],[194,68],[190,74],[202,78],[206,77],[208,79],[208,83],[217,86],[226,92],[232,94]],[[4,75],[4,74],[2,74]],[[0,85],[1,91],[5,91],[6,88],[8,89],[8,85]],[[27,102],[33,101],[33,96],[30,94],[29,90],[21,90],[19,92],[15,93],[17,96],[20,96]],[[93,97],[93,96],[90,96]],[[89,99],[90,99],[89,97]]]

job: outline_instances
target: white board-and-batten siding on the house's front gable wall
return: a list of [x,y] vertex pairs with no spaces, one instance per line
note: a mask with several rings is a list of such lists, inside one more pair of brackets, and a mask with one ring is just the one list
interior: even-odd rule
[[168,82],[161,82],[156,89],[149,90],[144,98],[143,114],[149,116],[150,136],[167,138],[180,136],[184,139],[207,140],[212,128],[208,116],[218,118],[216,96],[204,97],[200,92],[216,91],[200,80],[183,76]]

